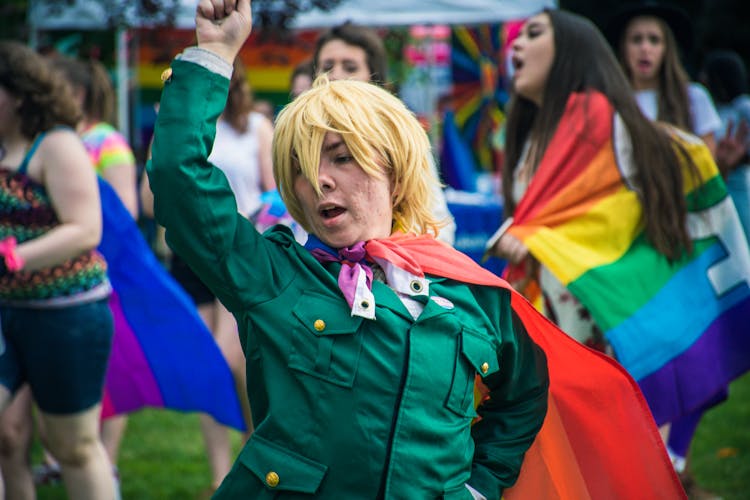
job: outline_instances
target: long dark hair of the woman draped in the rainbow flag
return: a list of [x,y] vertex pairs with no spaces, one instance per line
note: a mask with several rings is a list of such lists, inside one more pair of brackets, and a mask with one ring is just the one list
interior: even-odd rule
[[697,168],[676,148],[667,132],[640,111],[617,59],[599,30],[578,15],[549,10],[555,56],[545,84],[541,107],[512,92],[506,122],[506,168],[503,194],[508,215],[515,210],[514,171],[527,140],[533,145],[528,161],[536,170],[573,92],[598,91],[619,113],[630,133],[636,169],[636,191],[643,205],[646,236],[669,259],[678,258],[692,243],[687,232],[687,205],[682,192],[683,173],[678,155]]

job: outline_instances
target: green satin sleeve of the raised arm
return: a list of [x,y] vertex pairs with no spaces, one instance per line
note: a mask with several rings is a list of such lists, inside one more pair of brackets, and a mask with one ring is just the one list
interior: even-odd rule
[[290,281],[291,270],[277,244],[237,212],[224,173],[208,161],[228,89],[226,76],[193,62],[172,62],[147,172],[154,214],[170,247],[236,311],[274,296]]

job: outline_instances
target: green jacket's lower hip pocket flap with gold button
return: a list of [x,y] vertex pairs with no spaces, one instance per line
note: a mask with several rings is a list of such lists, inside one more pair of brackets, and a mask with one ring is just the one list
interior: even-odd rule
[[314,494],[328,470],[272,441],[253,434],[240,453],[247,467],[269,491]]

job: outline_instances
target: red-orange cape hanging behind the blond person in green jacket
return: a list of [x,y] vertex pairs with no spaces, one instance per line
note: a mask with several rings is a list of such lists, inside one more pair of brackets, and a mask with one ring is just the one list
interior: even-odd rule
[[[544,350],[547,415],[506,500],[686,498],[638,384],[619,363],[573,340],[507,282],[432,237],[395,233],[366,248],[412,274],[509,289],[515,327]],[[480,419],[475,440],[482,429]]]

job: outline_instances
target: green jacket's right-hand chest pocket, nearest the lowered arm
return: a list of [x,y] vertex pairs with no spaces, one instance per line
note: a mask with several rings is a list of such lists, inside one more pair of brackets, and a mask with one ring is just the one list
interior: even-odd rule
[[498,350],[493,339],[486,332],[464,327],[446,408],[463,417],[476,417],[474,379],[477,374],[484,378],[499,369]]

